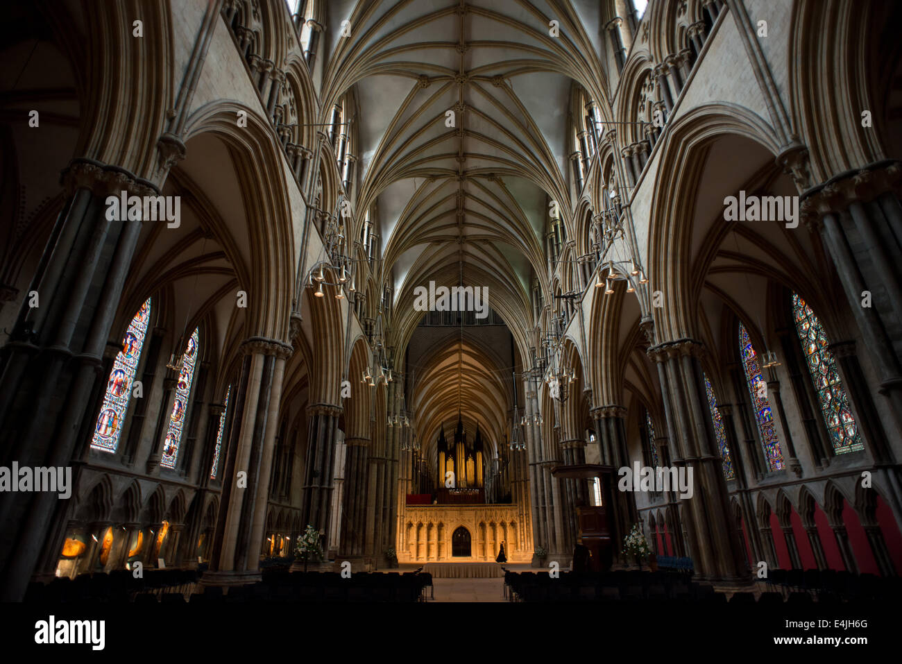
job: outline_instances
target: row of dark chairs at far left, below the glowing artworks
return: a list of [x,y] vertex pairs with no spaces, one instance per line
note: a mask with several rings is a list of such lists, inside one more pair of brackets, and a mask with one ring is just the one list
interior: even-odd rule
[[96,572],[70,579],[55,578],[49,584],[32,582],[25,593],[25,602],[33,604],[83,604],[86,602],[125,602],[135,595],[151,593],[164,595],[188,592],[198,581],[194,569],[150,569],[135,578],[127,569],[115,569],[108,574]]

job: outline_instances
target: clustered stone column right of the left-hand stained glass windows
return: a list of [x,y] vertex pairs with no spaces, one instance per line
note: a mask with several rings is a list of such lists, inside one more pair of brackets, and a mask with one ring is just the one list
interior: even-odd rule
[[251,337],[243,350],[210,570],[204,576],[208,585],[244,585],[260,578],[282,374],[292,348]]

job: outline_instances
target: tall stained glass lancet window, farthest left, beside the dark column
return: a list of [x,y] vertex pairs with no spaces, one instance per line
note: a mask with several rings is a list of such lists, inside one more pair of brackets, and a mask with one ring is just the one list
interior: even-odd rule
[[144,335],[147,334],[147,323],[150,319],[151,299],[148,298],[132,318],[128,329],[125,330],[122,350],[113,361],[113,371],[110,372],[109,381],[106,383],[104,405],[97,416],[94,437],[91,438],[91,447],[94,449],[115,452],[115,448],[119,444],[122,425],[125,421],[125,410],[128,409],[128,400],[132,396],[132,382],[134,374],[138,370],[138,361],[141,359],[141,349],[144,346]]

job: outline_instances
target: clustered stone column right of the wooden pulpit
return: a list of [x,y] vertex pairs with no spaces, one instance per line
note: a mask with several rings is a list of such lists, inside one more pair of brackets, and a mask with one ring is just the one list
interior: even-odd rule
[[699,362],[702,352],[702,344],[694,339],[649,348],[658,364],[673,463],[686,472],[693,470],[693,495],[682,500],[695,574],[720,583],[747,583],[745,554],[732,523],[723,462],[708,410]]

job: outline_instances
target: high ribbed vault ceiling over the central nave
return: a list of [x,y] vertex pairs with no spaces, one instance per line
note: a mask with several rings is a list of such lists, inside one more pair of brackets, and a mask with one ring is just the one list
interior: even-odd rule
[[[356,208],[374,203],[378,209],[380,276],[397,300],[430,280],[458,283],[463,266],[465,285],[489,285],[485,275],[494,276],[490,303],[503,310],[512,331],[532,327],[533,274],[547,287],[548,197],[569,200],[566,114],[573,81],[604,98],[589,36],[597,32],[598,6],[328,3],[322,121],[331,103],[355,86],[362,178]],[[549,36],[552,19],[560,23],[557,37]],[[350,22],[350,36],[341,36],[343,21]],[[448,111],[454,126],[447,126]],[[408,318],[392,326],[399,339],[417,324]]]

